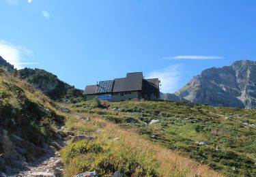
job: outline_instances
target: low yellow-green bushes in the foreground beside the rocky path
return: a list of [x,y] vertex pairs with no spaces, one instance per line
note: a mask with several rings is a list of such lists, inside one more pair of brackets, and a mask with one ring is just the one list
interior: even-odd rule
[[134,154],[110,141],[75,142],[61,150],[61,157],[69,176],[85,171],[96,171],[100,176],[106,176],[117,170],[124,176],[158,176],[154,157]]

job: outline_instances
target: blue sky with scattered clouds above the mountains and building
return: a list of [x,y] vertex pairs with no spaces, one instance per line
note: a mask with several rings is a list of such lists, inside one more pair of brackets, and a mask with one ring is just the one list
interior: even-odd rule
[[1,0],[0,55],[84,88],[143,71],[171,93],[256,59],[255,0]]

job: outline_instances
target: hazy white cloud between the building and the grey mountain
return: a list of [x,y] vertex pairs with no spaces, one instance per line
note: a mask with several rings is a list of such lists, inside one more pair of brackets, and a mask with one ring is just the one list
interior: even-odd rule
[[159,78],[160,80],[160,91],[163,93],[173,93],[177,91],[177,84],[181,77],[181,67],[182,65],[171,65],[165,69],[160,69],[158,71],[152,71],[147,74],[146,78]]

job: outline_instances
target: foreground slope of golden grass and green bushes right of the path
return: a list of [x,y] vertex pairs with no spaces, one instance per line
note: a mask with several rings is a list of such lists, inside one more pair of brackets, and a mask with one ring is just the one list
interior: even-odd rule
[[[92,102],[90,106],[96,105]],[[117,170],[124,176],[221,176],[179,152],[146,140],[136,129],[123,129],[98,114],[76,113],[66,121],[66,127],[77,135],[95,138],[70,143],[61,150],[66,176],[94,170],[100,176],[111,176]]]

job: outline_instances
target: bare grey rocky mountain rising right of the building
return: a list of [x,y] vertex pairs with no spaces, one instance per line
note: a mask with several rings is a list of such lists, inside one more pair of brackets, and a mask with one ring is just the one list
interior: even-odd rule
[[256,62],[205,69],[175,95],[211,106],[256,109]]

